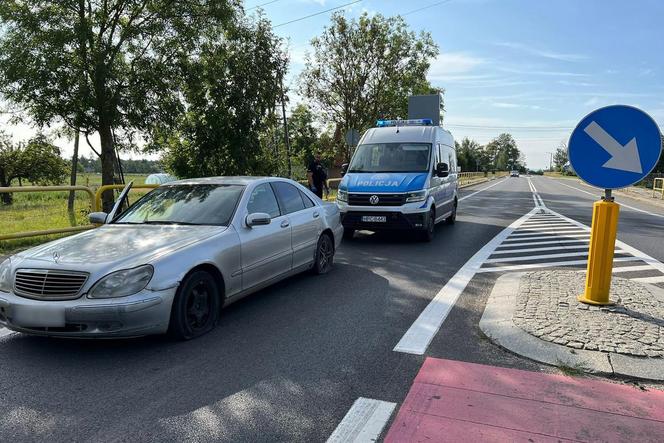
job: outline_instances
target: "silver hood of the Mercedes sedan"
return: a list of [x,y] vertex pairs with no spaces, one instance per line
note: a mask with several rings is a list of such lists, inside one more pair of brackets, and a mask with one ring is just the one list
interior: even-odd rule
[[161,255],[221,233],[221,226],[105,225],[79,235],[28,249],[21,265],[33,262],[76,269],[122,268],[150,263]]

